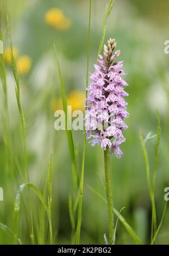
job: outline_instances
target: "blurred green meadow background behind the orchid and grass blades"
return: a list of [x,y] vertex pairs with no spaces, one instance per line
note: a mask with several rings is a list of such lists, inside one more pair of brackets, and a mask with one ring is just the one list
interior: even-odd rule
[[[52,176],[53,201],[52,224],[55,244],[69,244],[71,225],[68,197],[72,191],[72,166],[64,131],[55,131],[54,112],[60,107],[60,81],[57,72],[54,43],[57,45],[61,72],[68,103],[73,109],[83,108],[88,29],[88,0],[1,0],[1,29],[4,36],[8,104],[12,134],[12,150],[15,158],[16,190],[23,183],[23,143],[21,125],[15,98],[15,81],[12,75],[8,47],[10,42],[6,28],[6,14],[10,19],[12,42],[16,62],[20,66],[21,103],[25,113],[28,144],[30,181],[43,191],[47,177],[51,151],[54,154]],[[90,72],[94,71],[103,28],[104,10],[107,1],[92,0]],[[114,2],[106,28],[105,42],[109,37],[117,41],[121,50],[119,60],[124,60],[126,81],[130,85],[128,112],[130,118],[124,132],[126,143],[122,145],[124,157],[111,157],[114,206],[134,228],[145,244],[150,242],[151,207],[139,132],[146,135],[157,130],[156,110],[162,119],[162,137],[157,172],[158,223],[164,207],[164,188],[169,186],[169,54],[164,54],[164,41],[169,40],[167,0],[118,0]],[[1,90],[1,112],[3,91]],[[2,122],[1,122],[2,124]],[[8,159],[3,141],[3,125],[0,131],[0,186],[4,201],[0,201],[0,222],[12,228],[12,190],[8,175]],[[83,132],[73,132],[78,167],[81,170]],[[148,142],[150,167],[154,166],[154,141]],[[99,174],[98,174],[99,173]],[[88,189],[92,186],[105,197],[103,150],[99,146],[86,148],[84,173],[84,202],[82,212],[81,244],[104,244],[108,233],[106,205]],[[28,195],[25,196],[25,202]],[[35,241],[41,233],[38,219],[40,204],[33,197]],[[25,206],[25,211],[29,212]],[[164,218],[159,244],[169,244],[168,210]],[[6,235],[5,235],[6,234]],[[19,237],[30,244],[29,229],[21,209]],[[0,229],[0,244],[11,244],[12,236]],[[47,243],[47,238],[46,238]],[[132,244],[133,241],[121,223],[117,228],[117,244]]]

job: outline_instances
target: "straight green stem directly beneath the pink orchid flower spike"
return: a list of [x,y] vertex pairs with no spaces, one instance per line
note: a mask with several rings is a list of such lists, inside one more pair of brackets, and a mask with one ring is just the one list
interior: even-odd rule
[[114,214],[113,214],[113,197],[112,197],[112,185],[110,175],[110,159],[109,159],[109,147],[106,147],[104,151],[104,167],[105,167],[105,184],[106,184],[106,197],[108,201],[108,215],[109,215],[109,244],[113,244],[113,232],[114,232]]

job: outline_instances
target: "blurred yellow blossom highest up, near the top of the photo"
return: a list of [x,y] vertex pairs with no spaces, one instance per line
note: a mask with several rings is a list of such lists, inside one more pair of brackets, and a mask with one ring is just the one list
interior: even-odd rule
[[48,25],[54,28],[64,30],[70,28],[72,22],[64,16],[64,13],[59,8],[51,8],[45,14],[45,21]]

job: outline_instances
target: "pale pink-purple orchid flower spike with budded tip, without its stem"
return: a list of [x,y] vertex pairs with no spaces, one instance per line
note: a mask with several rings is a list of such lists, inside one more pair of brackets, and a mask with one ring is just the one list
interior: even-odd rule
[[110,38],[108,46],[104,45],[104,56],[99,55],[99,65],[94,65],[92,83],[87,87],[85,127],[92,146],[99,144],[104,150],[110,147],[110,153],[120,158],[123,153],[119,146],[126,140],[122,131],[127,128],[123,119],[129,116],[124,101],[128,96],[124,86],[128,84],[122,79],[126,75],[122,70],[123,61],[115,62],[120,55],[120,50],[113,54],[115,46],[115,40]]

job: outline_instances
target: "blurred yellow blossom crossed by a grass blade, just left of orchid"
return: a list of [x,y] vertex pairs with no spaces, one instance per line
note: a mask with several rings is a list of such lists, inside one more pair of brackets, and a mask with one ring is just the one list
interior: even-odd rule
[[[68,106],[72,106],[72,112],[74,110],[84,110],[85,105],[85,94],[78,91],[72,91],[70,92],[68,96]],[[54,101],[51,103],[51,110],[56,111],[59,109],[63,109],[63,103],[61,99],[54,99]]]

